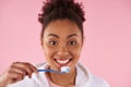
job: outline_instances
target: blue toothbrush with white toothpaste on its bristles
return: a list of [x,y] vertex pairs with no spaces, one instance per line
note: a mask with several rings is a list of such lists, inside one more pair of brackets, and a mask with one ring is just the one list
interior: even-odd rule
[[52,72],[52,73],[58,73],[58,74],[64,74],[64,73],[70,72],[70,67],[69,66],[62,66],[60,69],[60,71],[56,71],[56,70],[38,70],[38,72]]

